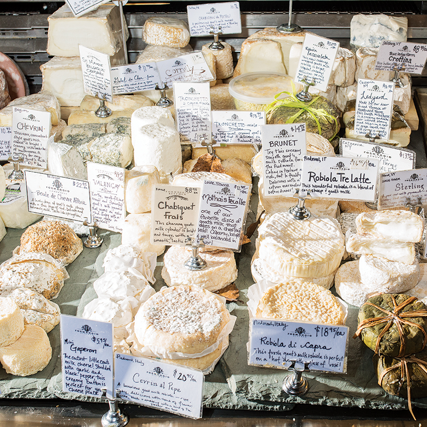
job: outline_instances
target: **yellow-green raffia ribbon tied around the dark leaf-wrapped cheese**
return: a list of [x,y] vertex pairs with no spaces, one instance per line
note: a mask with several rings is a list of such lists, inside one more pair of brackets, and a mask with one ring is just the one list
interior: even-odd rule
[[[320,120],[325,121],[326,123],[329,124],[329,120],[328,119],[333,119],[335,121],[335,134],[329,139],[329,141],[332,141],[335,136],[338,133],[338,122],[337,119],[332,116],[331,114],[329,114],[327,111],[325,111],[325,109],[321,108],[321,109],[315,109],[313,107],[310,107],[310,105],[319,97],[316,96],[313,99],[311,99],[310,102],[303,102],[300,101],[296,96],[295,96],[295,85],[292,82],[292,89],[293,89],[293,93],[291,92],[287,92],[287,91],[283,91],[280,93],[277,93],[276,95],[274,95],[274,101],[271,102],[268,106],[267,106],[267,113],[271,110],[275,110],[276,108],[278,108],[279,106],[286,106],[289,108],[298,108],[300,109],[300,111],[298,111],[297,113],[295,113],[293,116],[291,116],[288,120],[286,120],[285,123],[294,123],[295,120],[304,112],[306,111],[316,122],[317,125],[317,131],[319,133],[319,135],[322,135],[322,127],[320,124]],[[282,93],[286,93],[287,95],[289,95],[287,98],[284,99],[279,99],[279,96]],[[319,119],[317,119],[317,117]]]

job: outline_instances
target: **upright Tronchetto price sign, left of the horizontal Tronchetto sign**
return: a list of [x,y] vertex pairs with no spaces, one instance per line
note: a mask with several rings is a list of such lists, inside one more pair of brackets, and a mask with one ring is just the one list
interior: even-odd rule
[[181,144],[194,143],[200,147],[200,139],[210,141],[210,93],[209,83],[174,82],[176,128]]

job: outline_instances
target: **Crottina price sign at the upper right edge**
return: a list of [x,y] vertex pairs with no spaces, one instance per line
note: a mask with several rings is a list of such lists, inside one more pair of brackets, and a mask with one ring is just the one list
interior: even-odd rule
[[383,40],[375,62],[376,70],[391,71],[405,67],[405,73],[421,74],[427,60],[427,45]]

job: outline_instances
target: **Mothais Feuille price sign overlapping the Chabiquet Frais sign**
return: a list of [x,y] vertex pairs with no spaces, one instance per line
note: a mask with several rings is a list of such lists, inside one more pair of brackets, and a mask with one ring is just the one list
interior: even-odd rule
[[197,238],[205,245],[240,251],[251,185],[204,180]]

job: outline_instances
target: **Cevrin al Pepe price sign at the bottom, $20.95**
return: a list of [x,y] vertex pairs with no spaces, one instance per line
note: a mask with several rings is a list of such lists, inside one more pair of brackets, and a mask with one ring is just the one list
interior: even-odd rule
[[147,357],[116,354],[115,390],[122,399],[201,418],[203,373]]

